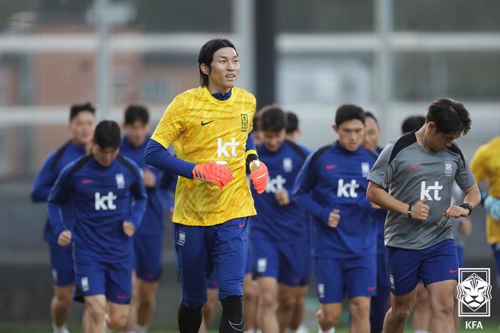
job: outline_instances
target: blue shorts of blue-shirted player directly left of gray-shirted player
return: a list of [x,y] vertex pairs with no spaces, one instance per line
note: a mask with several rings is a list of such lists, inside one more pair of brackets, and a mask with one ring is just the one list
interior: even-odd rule
[[340,303],[376,293],[376,255],[349,259],[315,257],[319,302]]

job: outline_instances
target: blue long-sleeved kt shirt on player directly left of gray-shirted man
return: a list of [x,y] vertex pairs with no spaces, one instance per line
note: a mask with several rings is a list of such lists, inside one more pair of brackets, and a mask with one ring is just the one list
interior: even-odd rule
[[[376,253],[374,209],[366,198],[367,175],[376,153],[363,147],[350,152],[338,143],[310,154],[297,176],[294,200],[313,215],[315,257],[355,258]],[[328,216],[340,221],[328,227]]]

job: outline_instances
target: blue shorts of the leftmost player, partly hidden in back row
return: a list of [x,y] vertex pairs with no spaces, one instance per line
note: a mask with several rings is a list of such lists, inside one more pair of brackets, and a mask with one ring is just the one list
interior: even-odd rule
[[72,245],[60,246],[57,241],[49,241],[52,283],[56,286],[74,284],[74,264]]

